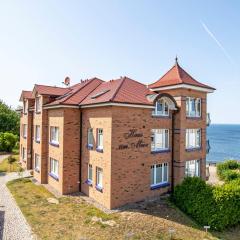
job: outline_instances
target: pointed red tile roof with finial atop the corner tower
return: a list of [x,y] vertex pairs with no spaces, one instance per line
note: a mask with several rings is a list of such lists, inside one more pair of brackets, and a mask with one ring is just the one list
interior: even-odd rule
[[215,88],[195,80],[183,68],[181,68],[177,62],[165,75],[163,75],[163,77],[161,77],[155,83],[150,84],[149,88],[154,89],[154,88],[168,87],[168,86],[173,86],[178,84],[188,84],[192,86],[215,90]]

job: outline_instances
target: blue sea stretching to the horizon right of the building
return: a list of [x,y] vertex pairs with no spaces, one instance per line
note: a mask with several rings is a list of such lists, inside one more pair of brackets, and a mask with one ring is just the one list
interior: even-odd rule
[[207,162],[240,160],[240,124],[211,124],[207,128],[210,152]]

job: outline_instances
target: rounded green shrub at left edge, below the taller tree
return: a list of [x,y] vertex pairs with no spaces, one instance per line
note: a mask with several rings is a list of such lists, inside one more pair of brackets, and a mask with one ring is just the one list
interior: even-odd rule
[[11,152],[16,145],[18,137],[13,133],[0,133],[0,151]]

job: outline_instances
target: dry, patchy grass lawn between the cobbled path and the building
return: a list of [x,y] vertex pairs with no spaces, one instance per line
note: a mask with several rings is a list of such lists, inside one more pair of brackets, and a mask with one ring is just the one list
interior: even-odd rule
[[[40,239],[231,239],[239,240],[240,228],[224,233],[206,234],[190,218],[168,201],[148,203],[146,206],[123,212],[106,214],[80,197],[61,197],[59,204],[51,204],[53,197],[43,186],[30,179],[9,182],[12,192],[33,231]],[[92,221],[93,217],[112,220],[115,226]]]

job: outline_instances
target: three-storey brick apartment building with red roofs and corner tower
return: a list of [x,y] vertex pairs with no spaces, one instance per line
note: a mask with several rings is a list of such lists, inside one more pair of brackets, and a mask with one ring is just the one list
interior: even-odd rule
[[206,176],[207,93],[177,60],[159,80],[92,78],[22,91],[20,159],[61,194],[105,207],[157,197]]

